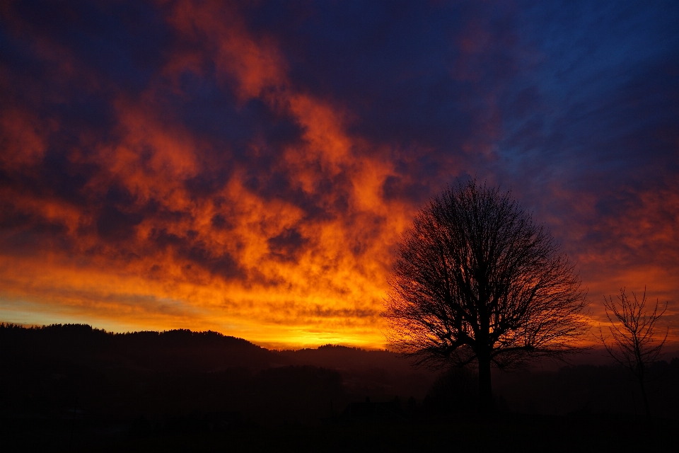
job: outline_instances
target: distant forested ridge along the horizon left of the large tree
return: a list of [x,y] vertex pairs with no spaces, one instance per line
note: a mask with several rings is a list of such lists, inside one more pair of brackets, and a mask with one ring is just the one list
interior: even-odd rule
[[[30,328],[0,324],[0,345],[6,357],[15,357],[21,362],[59,360],[149,371],[216,372],[228,368],[259,371],[269,367],[311,365],[349,374],[381,374],[382,378],[394,374],[399,382],[403,375],[414,373],[416,380],[424,378],[424,386],[413,389],[414,393],[421,394],[419,396],[424,396],[426,385],[434,378],[431,372],[412,369],[410,362],[395,352],[337,345],[267,350],[243,338],[212,331],[110,333],[84,324]],[[402,390],[407,393],[407,389]]]

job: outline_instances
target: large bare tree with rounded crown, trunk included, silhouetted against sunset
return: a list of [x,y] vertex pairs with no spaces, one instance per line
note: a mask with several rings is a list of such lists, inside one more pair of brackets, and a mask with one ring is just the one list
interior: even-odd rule
[[458,184],[432,198],[400,243],[383,316],[416,364],[478,366],[492,411],[491,365],[562,358],[586,332],[574,268],[510,193]]

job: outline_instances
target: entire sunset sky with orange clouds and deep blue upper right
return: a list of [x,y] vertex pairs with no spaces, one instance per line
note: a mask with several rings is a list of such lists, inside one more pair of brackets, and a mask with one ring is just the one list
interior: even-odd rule
[[679,341],[676,1],[4,1],[0,320],[385,347],[476,178]]

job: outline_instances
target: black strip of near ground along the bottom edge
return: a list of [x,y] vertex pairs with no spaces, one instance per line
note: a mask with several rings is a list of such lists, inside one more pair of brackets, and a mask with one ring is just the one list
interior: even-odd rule
[[[661,452],[677,451],[676,422],[615,415],[503,414],[492,420],[426,418],[320,426],[234,426],[147,432],[76,422],[3,420],[3,451],[56,452]],[[115,428],[115,427],[112,427]]]

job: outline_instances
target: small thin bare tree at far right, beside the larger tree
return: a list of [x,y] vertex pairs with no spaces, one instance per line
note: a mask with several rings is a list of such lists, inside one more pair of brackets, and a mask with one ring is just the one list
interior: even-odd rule
[[606,310],[606,317],[610,321],[611,336],[613,342],[608,343],[608,338],[603,336],[603,331],[599,327],[599,339],[608,351],[608,354],[613,357],[613,360],[618,362],[623,367],[629,369],[639,381],[639,386],[642,390],[642,398],[644,399],[644,408],[646,409],[646,416],[651,416],[649,409],[649,400],[646,396],[646,369],[649,365],[655,362],[660,355],[663,345],[667,340],[669,327],[665,332],[665,337],[658,343],[656,333],[654,331],[656,322],[663,316],[667,309],[667,303],[663,311],[658,313],[658,300],[656,299],[656,306],[651,314],[646,313],[646,287],[644,287],[644,296],[642,300],[637,299],[637,294],[632,292],[632,299],[625,294],[625,288],[620,289],[620,296],[617,296],[617,302],[613,300],[613,296],[606,299],[603,297]]

